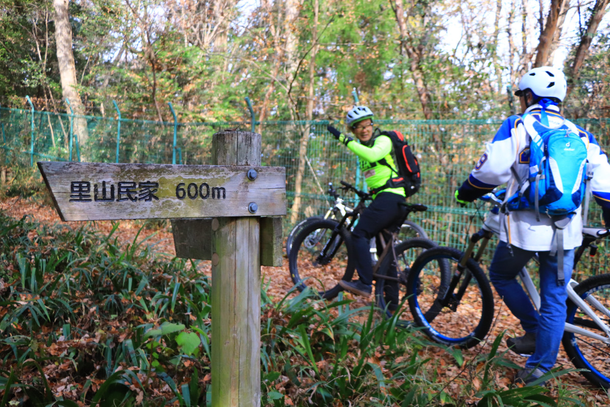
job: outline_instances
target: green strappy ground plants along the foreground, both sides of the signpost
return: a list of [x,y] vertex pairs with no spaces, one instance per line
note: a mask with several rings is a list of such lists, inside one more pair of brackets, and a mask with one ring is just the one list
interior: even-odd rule
[[[117,229],[0,215],[1,405],[210,405],[209,278],[196,262],[157,256],[152,240],[121,244]],[[498,352],[501,337],[466,356],[373,306],[266,292],[264,406],[586,406],[595,397],[561,383],[553,397],[502,389],[493,372],[515,365]],[[440,359],[463,368],[447,374]]]

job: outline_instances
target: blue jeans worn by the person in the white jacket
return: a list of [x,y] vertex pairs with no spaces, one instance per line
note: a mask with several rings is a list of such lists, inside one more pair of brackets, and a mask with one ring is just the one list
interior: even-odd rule
[[511,254],[508,243],[498,243],[492,264],[489,266],[489,279],[500,297],[504,298],[504,303],[512,314],[519,318],[523,330],[536,333],[536,351],[529,356],[525,367],[537,367],[548,372],[557,360],[559,344],[564,333],[565,300],[567,300],[565,287],[572,276],[574,250],[564,250],[564,286],[557,284],[557,256],[551,256],[548,251],[538,252],[540,313],[536,312],[525,290],[516,279],[534,254],[536,252],[514,246]]

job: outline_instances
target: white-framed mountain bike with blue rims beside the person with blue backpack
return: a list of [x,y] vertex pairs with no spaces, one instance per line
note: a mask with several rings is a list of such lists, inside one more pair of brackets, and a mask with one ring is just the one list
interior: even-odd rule
[[[483,248],[496,230],[484,224],[470,237],[463,253],[450,247],[425,251],[415,260],[407,280],[409,308],[415,323],[436,342],[470,348],[481,342],[493,320],[493,298],[486,276],[478,265]],[[575,251],[574,265],[586,250],[594,256],[596,243],[610,236],[610,229],[583,228],[583,244]],[[476,242],[481,247],[471,258]],[[420,279],[440,267],[440,259],[452,264],[447,287],[428,293]],[[443,267],[446,267],[444,265]],[[445,271],[443,271],[444,273]],[[519,273],[534,308],[540,307],[536,286],[523,267]],[[567,286],[567,318],[562,344],[570,360],[595,386],[610,388],[610,274],[592,276],[580,284],[570,279]],[[426,310],[426,311],[423,311]]]

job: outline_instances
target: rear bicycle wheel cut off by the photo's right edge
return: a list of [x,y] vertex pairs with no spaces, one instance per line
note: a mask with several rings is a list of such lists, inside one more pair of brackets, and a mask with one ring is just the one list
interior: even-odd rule
[[[587,278],[575,287],[575,292],[600,319],[601,326],[578,304],[568,300],[565,322],[581,328],[578,333],[564,332],[565,353],[594,386],[610,388],[610,274]],[[606,331],[607,332],[607,331]]]

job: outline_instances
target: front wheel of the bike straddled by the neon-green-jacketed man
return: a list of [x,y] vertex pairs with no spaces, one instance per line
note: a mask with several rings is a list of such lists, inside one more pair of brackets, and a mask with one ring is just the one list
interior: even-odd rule
[[335,220],[312,220],[293,240],[290,278],[299,290],[311,287],[322,298],[333,298],[342,290],[339,280],[354,275],[351,234],[345,228],[336,230],[337,225]]

